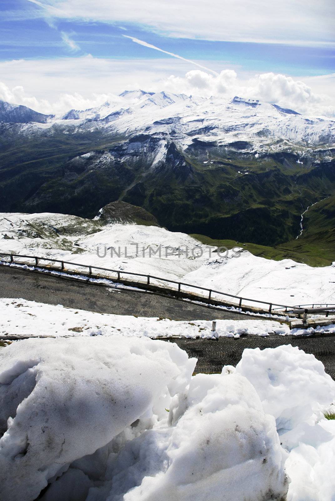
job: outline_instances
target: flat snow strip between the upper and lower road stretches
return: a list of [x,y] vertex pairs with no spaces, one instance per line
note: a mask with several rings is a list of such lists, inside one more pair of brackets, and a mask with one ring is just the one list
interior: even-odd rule
[[[111,290],[110,294],[118,294]],[[25,299],[0,298],[1,336],[123,336],[214,338],[241,335],[268,336],[278,334],[310,334],[308,330],[290,331],[286,324],[271,320],[217,320],[216,331],[212,332],[212,322],[191,320],[189,322],[159,318],[112,315],[85,310],[65,308],[62,305],[47,305]],[[322,328],[335,333],[335,325]]]

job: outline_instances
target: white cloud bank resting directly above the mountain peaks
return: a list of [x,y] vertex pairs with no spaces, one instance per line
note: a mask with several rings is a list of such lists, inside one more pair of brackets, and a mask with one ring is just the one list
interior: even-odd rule
[[[204,62],[205,64],[206,62]],[[180,60],[110,60],[92,56],[0,62],[0,99],[43,113],[86,109],[115,100],[123,90],[142,88],[209,97],[238,95],[276,103],[311,116],[335,116],[334,75],[304,81],[285,75],[250,75],[225,68],[218,75],[187,71]],[[22,84],[24,83],[24,88]],[[315,84],[315,89],[313,87]],[[329,92],[327,92],[329,90]],[[322,92],[323,91],[323,92]]]

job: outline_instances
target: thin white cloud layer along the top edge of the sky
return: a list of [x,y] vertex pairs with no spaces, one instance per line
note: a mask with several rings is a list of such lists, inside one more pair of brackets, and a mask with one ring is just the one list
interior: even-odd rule
[[56,18],[136,23],[170,37],[334,45],[332,0],[96,0],[94,6],[91,0],[34,2]]

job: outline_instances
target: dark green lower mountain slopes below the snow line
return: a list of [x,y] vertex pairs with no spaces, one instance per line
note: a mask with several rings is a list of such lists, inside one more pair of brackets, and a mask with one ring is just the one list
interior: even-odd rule
[[[0,125],[0,211],[90,218],[120,199],[143,207],[169,230],[251,242],[251,252],[264,257],[314,266],[333,259],[335,160],[323,161],[320,152],[301,165],[294,153],[256,157],[199,141],[181,151],[171,142],[164,163],[153,167],[158,139],[145,134],[1,132]],[[92,158],[79,158],[92,151]],[[329,202],[320,202],[321,212],[308,211],[306,230],[295,241],[300,213],[325,196]]]

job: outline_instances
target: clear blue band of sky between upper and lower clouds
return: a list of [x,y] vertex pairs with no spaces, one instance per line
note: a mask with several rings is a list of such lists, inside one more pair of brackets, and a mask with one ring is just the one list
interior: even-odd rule
[[[275,71],[292,76],[326,75],[335,71],[333,47],[171,38],[126,21],[122,23],[122,29],[100,21],[51,20],[43,17],[44,12],[39,6],[27,0],[3,0],[0,11],[3,12],[0,33],[2,61],[85,54],[111,59],[157,59],[156,51],[122,36],[128,34],[186,59],[223,61],[247,71]],[[64,42],[62,32],[78,46],[77,50]],[[163,54],[160,57],[170,58]]]

